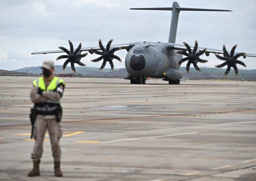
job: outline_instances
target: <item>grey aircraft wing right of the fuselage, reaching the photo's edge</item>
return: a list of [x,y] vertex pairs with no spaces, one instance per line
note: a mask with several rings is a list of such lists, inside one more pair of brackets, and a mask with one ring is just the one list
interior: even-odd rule
[[[166,48],[173,49],[173,50],[184,50],[187,51],[187,47],[185,45],[176,44],[176,43],[167,43]],[[190,46],[190,48],[193,50],[194,47]],[[205,47],[197,47],[197,50],[204,50]],[[230,54],[230,51],[227,51]],[[224,54],[223,50],[220,49],[213,49],[213,48],[206,48],[205,54],[207,53],[213,53],[213,54]],[[241,52],[234,52],[235,54],[239,54]],[[245,52],[244,52],[245,53]],[[244,56],[248,57],[256,57],[256,54],[246,53]]]

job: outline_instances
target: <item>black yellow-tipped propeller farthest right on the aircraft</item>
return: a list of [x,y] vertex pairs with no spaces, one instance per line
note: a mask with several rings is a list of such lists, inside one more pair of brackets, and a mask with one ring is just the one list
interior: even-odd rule
[[245,55],[245,53],[238,53],[238,54],[236,54],[234,56],[234,52],[235,52],[236,47],[237,47],[237,45],[235,45],[231,49],[231,52],[230,52],[230,55],[229,55],[227,50],[226,50],[225,45],[223,45],[223,52],[224,52],[223,55],[224,55],[224,57],[222,57],[222,56],[220,56],[218,54],[215,54],[218,59],[226,61],[226,62],[224,62],[224,63],[222,63],[220,65],[216,65],[215,67],[220,68],[220,67],[224,67],[225,65],[228,65],[228,68],[227,68],[226,72],[223,74],[224,76],[226,76],[228,74],[228,72],[230,71],[231,67],[234,68],[234,70],[236,72],[236,76],[237,76],[238,75],[238,69],[236,67],[237,63],[243,65],[244,67],[246,67],[244,62],[237,60],[238,57]]

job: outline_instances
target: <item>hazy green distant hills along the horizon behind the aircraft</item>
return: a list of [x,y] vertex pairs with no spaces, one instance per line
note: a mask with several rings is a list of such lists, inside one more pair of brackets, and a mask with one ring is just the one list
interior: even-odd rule
[[[55,67],[55,74],[76,74],[76,75],[82,75],[82,76],[90,76],[90,77],[126,77],[127,71],[126,69],[114,69],[111,71],[111,69],[104,68],[102,70],[99,70],[99,68],[95,67],[76,67],[76,73],[74,73],[71,69],[71,67],[66,67],[66,70],[62,70],[61,65],[56,65]],[[193,67],[190,67],[189,73],[187,73],[185,67],[180,67],[179,71],[182,74],[183,77],[188,77],[189,79],[195,79],[195,78],[205,78],[205,79],[211,79],[211,78],[232,78],[232,79],[254,79],[256,80],[256,69],[252,70],[245,70],[245,69],[239,69],[238,76],[235,76],[234,69],[231,69],[229,74],[227,76],[223,76],[223,73],[226,71],[226,69],[218,69],[218,68],[207,68],[207,67],[201,67],[202,71],[199,72]],[[14,72],[19,72],[22,74],[40,74],[42,73],[41,66],[37,67],[25,67],[22,69],[16,69],[12,70]]]

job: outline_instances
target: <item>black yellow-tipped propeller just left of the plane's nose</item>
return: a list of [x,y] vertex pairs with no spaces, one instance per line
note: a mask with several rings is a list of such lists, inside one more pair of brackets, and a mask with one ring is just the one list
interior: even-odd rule
[[103,47],[102,43],[101,43],[101,40],[99,40],[99,46],[100,46],[100,49],[101,49],[102,52],[100,52],[98,50],[94,50],[93,48],[91,49],[95,54],[101,55],[99,58],[91,60],[92,62],[99,62],[100,60],[103,59],[103,63],[100,67],[100,70],[105,67],[107,62],[110,63],[111,70],[113,70],[114,69],[114,64],[112,62],[113,59],[116,59],[116,60],[122,62],[122,60],[118,56],[114,55],[114,52],[116,50],[121,50],[122,48],[112,48],[112,49],[110,49],[110,45],[111,45],[112,41],[113,40],[110,40],[108,42],[107,47],[105,49]]

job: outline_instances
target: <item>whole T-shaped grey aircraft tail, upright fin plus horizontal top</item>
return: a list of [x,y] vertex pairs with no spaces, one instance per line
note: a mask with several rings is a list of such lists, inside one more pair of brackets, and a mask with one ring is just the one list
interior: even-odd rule
[[162,11],[172,11],[172,20],[169,34],[169,43],[175,43],[179,13],[180,11],[230,11],[230,10],[215,10],[215,9],[200,9],[200,8],[182,8],[180,5],[174,1],[172,7],[167,8],[130,8],[130,10],[162,10]]

